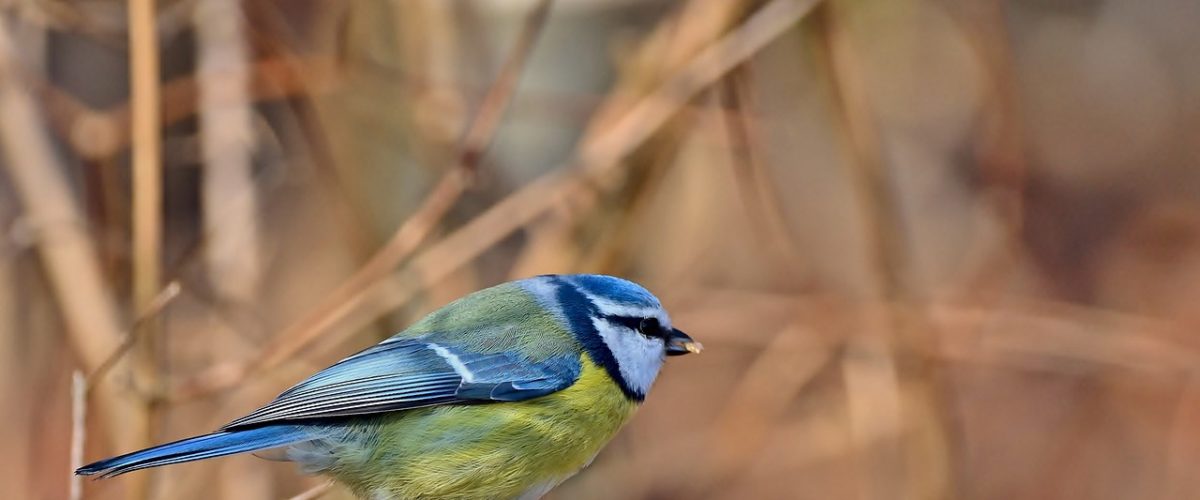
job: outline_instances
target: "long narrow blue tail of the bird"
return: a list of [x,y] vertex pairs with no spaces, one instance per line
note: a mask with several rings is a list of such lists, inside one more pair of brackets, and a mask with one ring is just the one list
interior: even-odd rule
[[268,426],[252,429],[222,430],[168,442],[151,448],[103,459],[76,470],[80,476],[112,477],[158,465],[179,464],[224,457],[227,454],[274,448],[313,438],[311,428],[301,426]]

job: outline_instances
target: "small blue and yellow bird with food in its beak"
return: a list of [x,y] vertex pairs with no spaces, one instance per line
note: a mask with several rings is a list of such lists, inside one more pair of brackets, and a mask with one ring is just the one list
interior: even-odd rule
[[467,295],[211,434],[76,474],[271,450],[364,499],[536,499],[629,421],[666,356],[700,350],[632,282],[539,276]]

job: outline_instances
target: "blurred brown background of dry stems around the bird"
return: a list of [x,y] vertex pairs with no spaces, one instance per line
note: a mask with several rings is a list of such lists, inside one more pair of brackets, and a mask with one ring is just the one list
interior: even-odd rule
[[216,428],[469,291],[702,355],[553,499],[1200,498],[1200,2],[0,2],[11,499],[348,499]]

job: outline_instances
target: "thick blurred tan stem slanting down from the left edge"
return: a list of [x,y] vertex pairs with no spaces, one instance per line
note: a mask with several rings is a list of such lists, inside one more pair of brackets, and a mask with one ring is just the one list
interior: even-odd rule
[[[16,78],[16,56],[5,23],[0,23],[0,145],[13,191],[36,231],[36,246],[67,326],[67,341],[90,373],[121,342],[114,299],[104,284],[83,212],[58,162],[29,89]],[[148,420],[134,394],[100,384],[94,391],[104,435],[115,448],[144,442]]]

